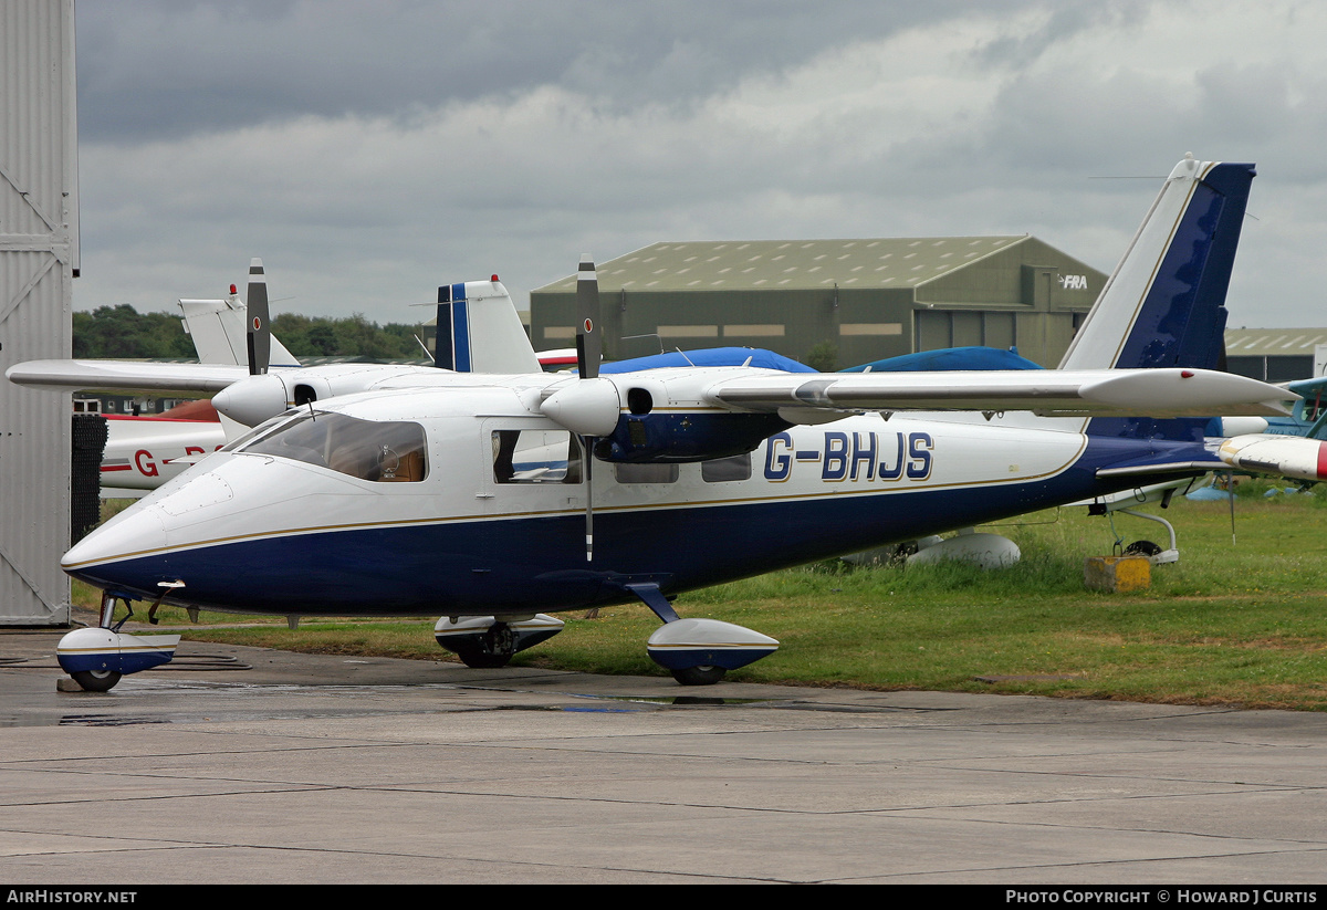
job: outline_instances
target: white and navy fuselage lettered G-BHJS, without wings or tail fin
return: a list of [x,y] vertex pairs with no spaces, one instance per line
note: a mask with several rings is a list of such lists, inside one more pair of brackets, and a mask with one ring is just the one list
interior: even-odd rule
[[[865,414],[707,463],[596,459],[588,561],[583,450],[531,402],[514,385],[293,413],[283,426],[297,428],[208,456],[64,566],[147,598],[180,580],[167,602],[235,612],[579,609],[630,600],[624,580],[677,593],[1128,488],[1140,480],[1095,468],[1158,444],[1088,436],[1072,419]],[[361,423],[395,435],[361,439]],[[405,427],[419,427],[417,455]]]

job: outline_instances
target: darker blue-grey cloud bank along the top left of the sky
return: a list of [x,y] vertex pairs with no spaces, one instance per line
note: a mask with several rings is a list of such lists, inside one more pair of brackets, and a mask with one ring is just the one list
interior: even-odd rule
[[80,129],[134,143],[304,114],[409,117],[540,85],[614,109],[685,105],[967,5],[89,0],[77,8]]

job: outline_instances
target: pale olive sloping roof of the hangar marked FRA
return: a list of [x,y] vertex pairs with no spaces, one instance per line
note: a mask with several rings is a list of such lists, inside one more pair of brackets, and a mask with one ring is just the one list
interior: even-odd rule
[[[1028,239],[722,240],[656,243],[598,264],[604,291],[914,288]],[[576,289],[576,276],[539,292]]]

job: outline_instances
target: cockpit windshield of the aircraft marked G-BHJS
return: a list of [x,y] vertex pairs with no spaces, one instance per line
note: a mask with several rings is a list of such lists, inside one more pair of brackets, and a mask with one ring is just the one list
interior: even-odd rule
[[429,472],[423,427],[409,421],[361,421],[311,410],[226,448],[289,458],[382,483],[419,482]]

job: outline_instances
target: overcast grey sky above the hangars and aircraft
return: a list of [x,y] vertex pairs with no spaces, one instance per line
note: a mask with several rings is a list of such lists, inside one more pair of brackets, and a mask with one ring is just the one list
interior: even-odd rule
[[[77,0],[74,305],[415,322],[660,240],[1032,233],[1258,164],[1231,326],[1327,325],[1327,4]],[[285,298],[285,300],[281,300]]]

